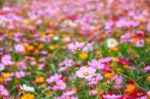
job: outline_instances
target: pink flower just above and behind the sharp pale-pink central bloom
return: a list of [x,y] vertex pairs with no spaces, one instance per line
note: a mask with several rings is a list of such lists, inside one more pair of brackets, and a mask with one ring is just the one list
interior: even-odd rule
[[104,64],[101,64],[99,61],[96,60],[88,62],[88,65],[98,70],[102,70],[105,66]]

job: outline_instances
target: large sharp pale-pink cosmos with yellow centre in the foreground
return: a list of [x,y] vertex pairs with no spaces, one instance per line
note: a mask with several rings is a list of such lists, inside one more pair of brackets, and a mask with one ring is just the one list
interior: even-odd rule
[[78,76],[79,78],[90,79],[91,77],[93,77],[95,72],[96,69],[92,67],[83,66],[76,72],[76,76]]

